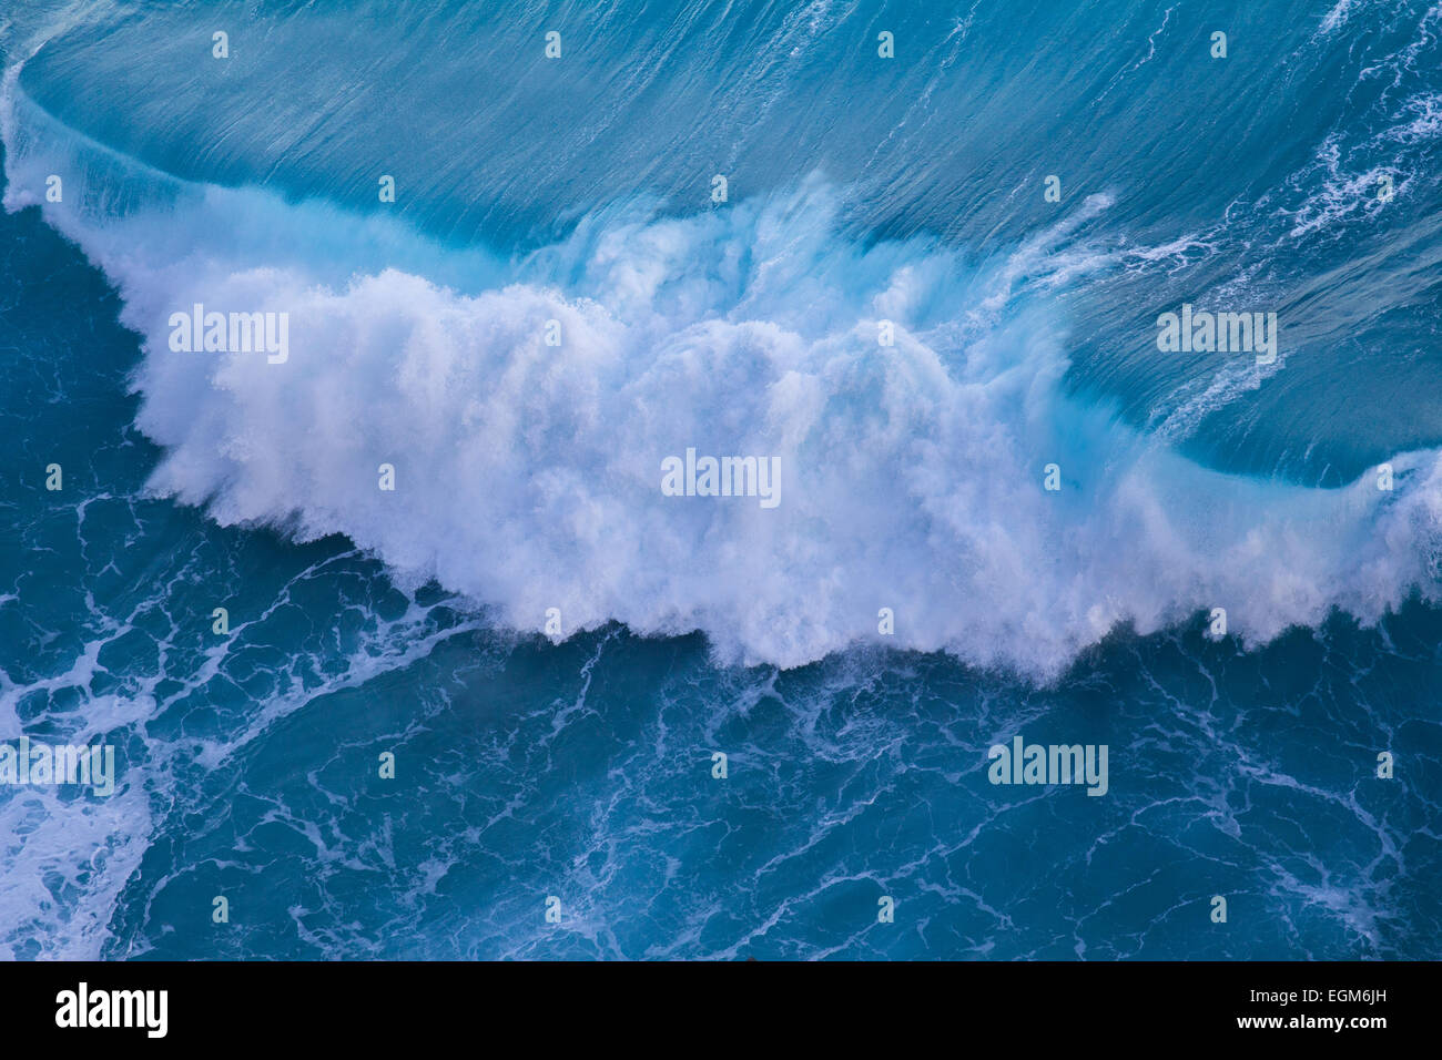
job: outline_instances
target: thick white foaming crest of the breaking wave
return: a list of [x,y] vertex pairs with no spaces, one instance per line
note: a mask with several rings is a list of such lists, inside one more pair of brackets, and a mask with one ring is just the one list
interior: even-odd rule
[[[1309,490],[1200,469],[1069,397],[1054,294],[1115,264],[1077,234],[1105,196],[983,261],[862,247],[819,179],[686,218],[603,211],[508,261],[147,170],[13,74],[3,131],[9,209],[61,164],[105,177],[40,205],[141,336],[154,490],[346,534],[516,629],[557,609],[562,635],[699,629],[733,662],[883,642],[1054,675],[1119,623],[1224,607],[1257,642],[1436,596],[1438,453],[1397,456],[1393,492]],[[290,356],[173,352],[196,303],[287,314]],[[783,502],[666,496],[688,449],[774,457]]]

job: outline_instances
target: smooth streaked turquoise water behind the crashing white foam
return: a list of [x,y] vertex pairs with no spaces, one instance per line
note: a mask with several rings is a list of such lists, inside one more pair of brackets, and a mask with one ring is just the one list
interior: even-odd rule
[[[1107,195],[1079,235],[1141,257],[1067,299],[1070,387],[1208,466],[1302,485],[1438,444],[1435,6],[66,10],[13,33],[46,40],[20,84],[66,127],[186,180],[503,257],[637,196],[705,212],[717,173],[747,202],[820,172],[864,245],[923,235],[985,258]],[[384,208],[382,173],[399,189]],[[1234,358],[1158,358],[1154,320],[1182,301],[1278,312],[1286,371],[1263,385]]]

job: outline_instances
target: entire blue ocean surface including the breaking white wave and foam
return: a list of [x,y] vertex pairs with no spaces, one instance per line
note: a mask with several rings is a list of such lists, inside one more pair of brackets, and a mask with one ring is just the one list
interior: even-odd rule
[[0,786],[0,955],[1442,956],[1442,4],[7,0],[0,65],[0,740],[118,769]]

